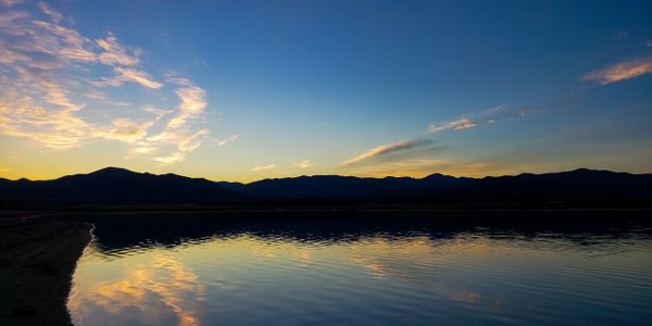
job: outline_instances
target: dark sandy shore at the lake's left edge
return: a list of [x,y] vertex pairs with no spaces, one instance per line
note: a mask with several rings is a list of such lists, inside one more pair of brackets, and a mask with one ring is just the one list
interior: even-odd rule
[[71,325],[66,300],[91,225],[0,220],[0,325]]

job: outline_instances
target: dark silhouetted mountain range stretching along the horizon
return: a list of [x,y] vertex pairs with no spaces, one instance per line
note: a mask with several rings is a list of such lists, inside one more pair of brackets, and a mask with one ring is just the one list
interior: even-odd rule
[[211,181],[106,167],[53,180],[0,179],[1,203],[652,203],[652,174],[579,168],[501,177],[338,175]]

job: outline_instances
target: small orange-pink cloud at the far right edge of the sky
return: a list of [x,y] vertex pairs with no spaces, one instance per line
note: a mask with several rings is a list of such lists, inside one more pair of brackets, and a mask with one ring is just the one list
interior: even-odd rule
[[603,70],[592,71],[582,76],[582,79],[607,85],[650,73],[652,73],[652,57],[647,57],[612,64]]

